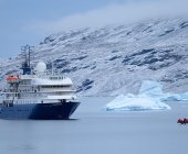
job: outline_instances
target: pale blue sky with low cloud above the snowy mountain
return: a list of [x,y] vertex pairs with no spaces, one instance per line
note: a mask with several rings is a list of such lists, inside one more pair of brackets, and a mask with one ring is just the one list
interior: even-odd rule
[[0,58],[61,31],[188,14],[187,6],[188,0],[0,0]]

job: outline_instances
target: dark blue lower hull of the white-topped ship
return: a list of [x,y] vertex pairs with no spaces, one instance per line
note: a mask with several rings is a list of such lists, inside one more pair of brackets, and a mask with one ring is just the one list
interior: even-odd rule
[[0,119],[66,120],[80,102],[0,106]]

